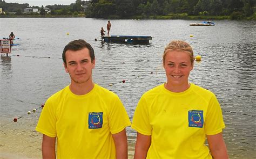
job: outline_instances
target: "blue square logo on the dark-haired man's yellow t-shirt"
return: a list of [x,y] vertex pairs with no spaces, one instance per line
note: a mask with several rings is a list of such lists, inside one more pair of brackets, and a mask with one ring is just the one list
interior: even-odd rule
[[89,112],[88,125],[90,129],[102,128],[103,112]]

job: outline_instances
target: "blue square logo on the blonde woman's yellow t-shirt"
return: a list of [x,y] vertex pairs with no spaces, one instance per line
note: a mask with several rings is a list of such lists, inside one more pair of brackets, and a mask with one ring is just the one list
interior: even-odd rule
[[200,127],[204,125],[204,111],[188,111],[188,127]]

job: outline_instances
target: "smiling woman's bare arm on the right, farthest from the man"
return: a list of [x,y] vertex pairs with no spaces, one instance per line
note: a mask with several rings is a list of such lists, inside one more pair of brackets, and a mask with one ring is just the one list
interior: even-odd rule
[[228,158],[227,148],[226,148],[222,133],[219,133],[216,135],[206,135],[206,136],[207,136],[207,141],[208,141],[213,158],[214,159]]

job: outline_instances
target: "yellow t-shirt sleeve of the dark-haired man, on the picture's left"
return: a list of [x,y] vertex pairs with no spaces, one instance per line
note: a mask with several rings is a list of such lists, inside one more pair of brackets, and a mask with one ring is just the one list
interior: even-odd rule
[[57,136],[56,133],[56,106],[51,103],[50,98],[46,101],[41,115],[39,117],[36,131],[45,134],[51,138]]

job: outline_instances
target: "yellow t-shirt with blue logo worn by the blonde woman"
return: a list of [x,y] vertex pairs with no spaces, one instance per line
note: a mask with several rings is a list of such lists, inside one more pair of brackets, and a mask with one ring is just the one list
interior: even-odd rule
[[174,93],[164,84],[144,93],[134,112],[131,127],[151,135],[147,158],[212,158],[205,145],[206,134],[225,127],[215,95],[191,83]]

